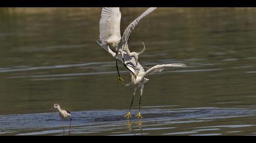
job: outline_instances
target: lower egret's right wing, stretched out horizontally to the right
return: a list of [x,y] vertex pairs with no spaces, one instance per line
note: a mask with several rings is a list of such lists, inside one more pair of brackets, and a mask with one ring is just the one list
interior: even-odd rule
[[146,73],[145,76],[149,76],[152,75],[154,73],[157,72],[161,72],[165,69],[165,67],[187,67],[187,65],[185,64],[162,64],[162,65],[155,65],[154,67],[149,68]]

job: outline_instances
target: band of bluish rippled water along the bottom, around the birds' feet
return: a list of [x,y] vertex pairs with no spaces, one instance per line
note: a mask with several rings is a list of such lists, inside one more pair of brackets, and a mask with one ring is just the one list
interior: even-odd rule
[[[213,125],[207,127],[194,127],[191,131],[179,130],[179,125],[196,124],[197,122],[213,122],[224,118],[239,118],[253,116],[256,110],[249,108],[175,108],[172,106],[143,108],[143,121],[134,119],[127,123],[123,118],[126,110],[90,110],[74,111],[72,134],[110,133],[110,135],[150,135],[149,131],[160,131],[162,135],[217,135],[219,133],[205,133],[205,131],[218,131],[221,128],[254,127],[253,124]],[[135,114],[132,110],[132,115]],[[236,113],[236,115],[234,115]],[[210,120],[202,120],[210,118]],[[58,113],[35,113],[28,115],[1,115],[0,134],[2,135],[62,135],[62,124]],[[134,125],[135,124],[135,125]],[[128,126],[127,126],[128,125]],[[140,127],[140,128],[137,128]],[[65,122],[68,128],[68,122]],[[130,129],[129,129],[130,128]],[[67,129],[68,130],[68,129]],[[131,133],[130,131],[134,132]],[[166,131],[172,131],[171,133]],[[163,133],[165,132],[165,133]],[[138,133],[137,133],[138,134]],[[139,133],[140,134],[140,133]],[[108,134],[107,134],[108,135]]]

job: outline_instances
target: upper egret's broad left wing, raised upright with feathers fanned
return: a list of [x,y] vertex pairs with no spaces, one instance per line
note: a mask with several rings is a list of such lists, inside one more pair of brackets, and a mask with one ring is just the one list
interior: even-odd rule
[[99,20],[99,39],[102,42],[118,42],[120,34],[121,12],[119,7],[103,7]]

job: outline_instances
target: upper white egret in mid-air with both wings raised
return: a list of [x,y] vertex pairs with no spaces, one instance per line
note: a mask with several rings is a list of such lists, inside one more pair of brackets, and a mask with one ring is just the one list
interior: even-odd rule
[[[153,12],[156,7],[150,7],[137,19],[131,22],[126,30],[124,30],[123,36],[121,37],[120,33],[120,22],[121,22],[121,12],[119,7],[103,7],[101,12],[101,19],[99,21],[99,41],[102,44],[106,44],[110,49],[115,52],[116,58],[116,69],[118,71],[118,79],[123,83],[124,79],[121,78],[118,70],[118,53],[121,53],[121,58],[123,59],[124,67],[126,67],[131,73],[132,70],[128,68],[124,61],[124,52],[123,49],[125,46],[128,46],[127,42],[132,30],[138,25],[140,19],[144,18],[149,13]],[[127,52],[126,52],[127,53]],[[138,61],[138,54],[135,52],[127,53],[129,56],[134,56],[136,63]],[[133,73],[134,75],[134,73]]]

